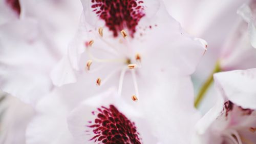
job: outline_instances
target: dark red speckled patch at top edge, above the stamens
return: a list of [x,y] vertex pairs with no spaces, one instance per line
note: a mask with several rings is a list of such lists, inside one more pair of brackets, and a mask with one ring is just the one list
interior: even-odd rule
[[121,30],[127,28],[133,37],[136,26],[143,13],[143,1],[139,0],[92,0],[93,12],[105,21],[105,25],[118,36]]

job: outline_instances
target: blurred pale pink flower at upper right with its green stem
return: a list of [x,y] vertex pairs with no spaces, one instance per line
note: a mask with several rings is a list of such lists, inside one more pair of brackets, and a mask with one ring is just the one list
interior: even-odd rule
[[[195,88],[198,91],[195,106],[198,107],[202,97],[206,97],[200,105],[200,110],[204,113],[217,100],[214,88],[210,87],[214,73],[256,67],[254,63],[256,51],[250,44],[250,41],[252,42],[250,39],[253,38],[249,36],[248,24],[240,16],[245,15],[243,17],[252,19],[251,16],[255,13],[253,10],[255,1],[248,1],[249,3],[232,0],[164,2],[168,12],[181,22],[188,33],[201,37],[208,43],[207,53],[193,75]],[[244,3],[251,9],[241,7]],[[207,89],[210,90],[208,93],[206,93]]]

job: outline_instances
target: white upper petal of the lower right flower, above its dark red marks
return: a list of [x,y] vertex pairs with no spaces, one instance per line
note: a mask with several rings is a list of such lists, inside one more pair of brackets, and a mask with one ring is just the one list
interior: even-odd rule
[[256,69],[215,74],[217,88],[234,104],[244,109],[256,109]]

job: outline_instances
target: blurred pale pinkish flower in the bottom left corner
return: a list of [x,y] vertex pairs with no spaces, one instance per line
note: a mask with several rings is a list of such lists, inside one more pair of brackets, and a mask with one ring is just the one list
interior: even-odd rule
[[25,131],[29,121],[35,114],[28,104],[0,92],[0,143],[25,144]]

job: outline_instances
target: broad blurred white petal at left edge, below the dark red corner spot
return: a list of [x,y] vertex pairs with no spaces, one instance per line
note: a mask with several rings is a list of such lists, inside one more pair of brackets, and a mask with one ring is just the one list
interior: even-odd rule
[[34,20],[1,26],[1,89],[34,103],[51,90],[49,72],[55,61]]

